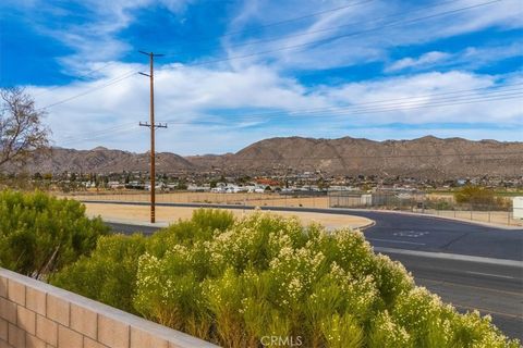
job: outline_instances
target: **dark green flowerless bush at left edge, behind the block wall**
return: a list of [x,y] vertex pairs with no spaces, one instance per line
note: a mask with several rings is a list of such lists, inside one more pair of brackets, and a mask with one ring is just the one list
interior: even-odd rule
[[36,278],[87,256],[109,228],[80,202],[35,191],[0,191],[0,266]]

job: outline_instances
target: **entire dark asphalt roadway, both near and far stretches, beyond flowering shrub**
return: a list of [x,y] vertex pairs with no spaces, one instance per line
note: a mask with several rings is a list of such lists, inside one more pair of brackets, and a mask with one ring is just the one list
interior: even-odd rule
[[[477,309],[482,314],[490,314],[492,322],[509,337],[523,340],[522,229],[507,231],[390,212],[306,208],[300,211],[374,220],[376,225],[365,231],[367,239],[376,251],[401,261],[412,272],[416,284],[438,294],[460,311]],[[123,233],[149,234],[157,229],[154,226],[110,225]],[[460,257],[454,258],[455,254]]]

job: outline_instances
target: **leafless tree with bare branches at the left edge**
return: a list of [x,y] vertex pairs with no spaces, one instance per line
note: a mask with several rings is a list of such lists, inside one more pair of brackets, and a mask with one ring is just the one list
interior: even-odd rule
[[0,97],[0,167],[48,149],[50,130],[41,123],[45,112],[35,108],[33,97],[19,87],[1,88]]

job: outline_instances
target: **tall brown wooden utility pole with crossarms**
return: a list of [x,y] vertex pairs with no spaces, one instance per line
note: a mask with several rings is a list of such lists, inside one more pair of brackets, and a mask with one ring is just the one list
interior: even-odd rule
[[150,120],[149,123],[139,123],[143,127],[150,128],[150,222],[155,223],[155,204],[156,204],[156,170],[155,170],[155,128],[167,128],[167,124],[155,124],[155,78],[154,78],[154,61],[155,57],[162,57],[163,54],[155,54],[153,52],[139,51],[139,53],[149,57],[150,72],[149,74],[139,73],[150,79]]

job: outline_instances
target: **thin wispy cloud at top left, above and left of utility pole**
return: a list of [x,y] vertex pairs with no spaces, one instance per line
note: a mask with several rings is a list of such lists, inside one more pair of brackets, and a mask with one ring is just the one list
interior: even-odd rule
[[162,7],[173,13],[183,12],[195,0],[86,0],[61,2],[31,0],[13,4],[31,13],[27,24],[44,36],[62,42],[72,54],[58,58],[66,71],[88,72],[92,63],[120,59],[133,47],[119,37],[138,10]]

